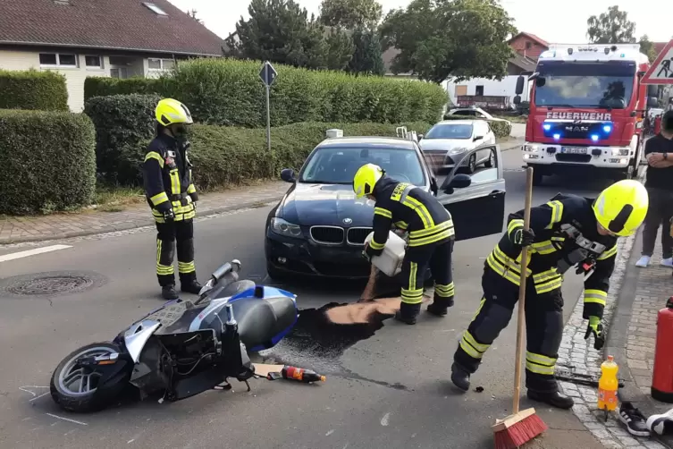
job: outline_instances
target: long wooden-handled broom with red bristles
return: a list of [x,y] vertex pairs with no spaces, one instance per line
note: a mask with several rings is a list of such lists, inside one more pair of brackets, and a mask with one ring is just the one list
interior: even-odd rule
[[[531,197],[533,196],[533,168],[526,169],[526,203],[524,207],[524,229],[530,226]],[[544,421],[535,414],[535,409],[518,410],[521,394],[521,364],[524,352],[524,323],[526,322],[526,267],[528,248],[521,249],[521,277],[518,287],[517,356],[514,367],[514,397],[512,414],[505,419],[496,419],[492,426],[495,449],[515,449],[547,430]]]

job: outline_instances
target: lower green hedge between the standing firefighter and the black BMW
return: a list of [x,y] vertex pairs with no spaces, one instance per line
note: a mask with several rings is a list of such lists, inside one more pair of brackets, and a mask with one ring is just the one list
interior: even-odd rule
[[[199,190],[272,178],[283,168],[299,169],[308,153],[324,140],[325,131],[343,130],[345,136],[395,136],[398,125],[382,123],[294,123],[271,130],[272,151],[266,149],[266,131],[195,124],[191,127],[189,161]],[[426,132],[428,123],[406,123],[408,130]],[[129,165],[142,161],[145,141]]]

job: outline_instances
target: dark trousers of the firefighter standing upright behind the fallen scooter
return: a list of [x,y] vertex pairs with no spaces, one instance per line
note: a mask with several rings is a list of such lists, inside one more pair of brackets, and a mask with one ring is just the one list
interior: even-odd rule
[[189,219],[156,223],[156,231],[156,276],[159,285],[163,287],[175,284],[173,258],[176,246],[181,284],[195,281],[197,269],[194,265],[194,222]]

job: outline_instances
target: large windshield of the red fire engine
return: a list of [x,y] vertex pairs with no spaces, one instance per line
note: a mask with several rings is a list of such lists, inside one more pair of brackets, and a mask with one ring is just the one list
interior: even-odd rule
[[634,89],[635,63],[538,64],[535,106],[624,109]]

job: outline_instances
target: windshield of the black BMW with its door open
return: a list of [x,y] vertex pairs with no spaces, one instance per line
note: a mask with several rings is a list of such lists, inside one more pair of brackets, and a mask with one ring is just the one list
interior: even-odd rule
[[352,184],[362,165],[376,164],[401,182],[425,185],[421,161],[413,149],[325,147],[315,150],[299,174],[299,182]]

